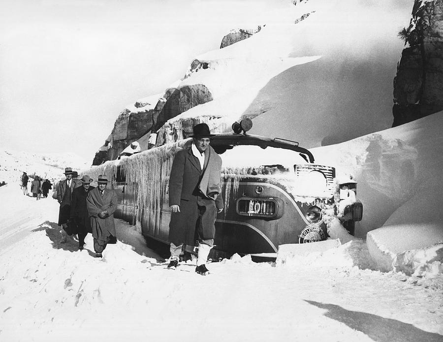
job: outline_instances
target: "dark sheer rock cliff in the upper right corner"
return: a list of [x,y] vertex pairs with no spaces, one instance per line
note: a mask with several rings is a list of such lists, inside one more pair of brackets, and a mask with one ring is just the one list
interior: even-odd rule
[[393,127],[443,110],[443,0],[415,0],[394,78]]

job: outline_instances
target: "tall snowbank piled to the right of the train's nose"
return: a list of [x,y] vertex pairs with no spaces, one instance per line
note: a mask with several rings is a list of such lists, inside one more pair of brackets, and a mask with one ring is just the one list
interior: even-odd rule
[[356,235],[367,233],[380,270],[443,272],[442,114],[312,149],[317,162],[356,178],[363,203]]

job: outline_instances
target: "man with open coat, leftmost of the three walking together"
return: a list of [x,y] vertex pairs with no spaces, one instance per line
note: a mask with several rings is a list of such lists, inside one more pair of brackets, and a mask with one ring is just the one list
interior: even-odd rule
[[69,227],[71,222],[68,222],[71,215],[72,191],[74,191],[76,187],[82,186],[82,182],[80,182],[78,179],[72,179],[72,174],[72,168],[66,167],[64,169],[66,179],[61,181],[57,186],[57,201],[60,203],[58,225],[59,227],[62,227],[60,230],[61,244],[66,243],[66,233],[68,233],[68,235],[72,235]]

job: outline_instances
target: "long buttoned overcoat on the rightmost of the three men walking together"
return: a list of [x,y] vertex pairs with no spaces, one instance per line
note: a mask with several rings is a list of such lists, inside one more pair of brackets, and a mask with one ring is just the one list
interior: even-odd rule
[[[92,234],[95,239],[107,241],[109,236],[116,236],[114,212],[117,209],[117,194],[113,189],[105,188],[103,197],[98,187],[92,189],[86,197],[86,206],[91,222]],[[99,218],[98,213],[106,210],[107,218]]]

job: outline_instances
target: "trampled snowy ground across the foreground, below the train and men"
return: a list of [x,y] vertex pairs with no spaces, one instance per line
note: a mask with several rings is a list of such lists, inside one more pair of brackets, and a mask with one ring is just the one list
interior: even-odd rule
[[442,341],[443,278],[372,269],[364,241],[166,270],[126,222],[94,258],[59,243],[58,203],[0,187],[1,341]]

